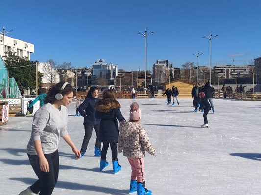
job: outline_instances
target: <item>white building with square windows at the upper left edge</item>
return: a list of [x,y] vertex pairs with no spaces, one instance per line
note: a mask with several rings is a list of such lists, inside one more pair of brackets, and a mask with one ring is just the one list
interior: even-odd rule
[[12,37],[4,36],[0,34],[0,55],[4,56],[5,52],[12,51],[17,56],[27,57],[30,60],[31,53],[34,53],[34,44],[25,42],[23,40],[15,39]]

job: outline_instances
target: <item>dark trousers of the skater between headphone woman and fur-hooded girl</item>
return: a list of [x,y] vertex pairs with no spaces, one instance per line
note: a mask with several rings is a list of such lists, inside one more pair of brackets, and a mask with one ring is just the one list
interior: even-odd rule
[[93,129],[96,132],[96,142],[95,142],[95,147],[100,148],[101,143],[99,141],[99,130],[100,130],[100,125],[84,125],[84,131],[85,131],[85,135],[82,141],[82,148],[81,148],[81,152],[83,152],[82,150],[86,150],[88,143],[92,137],[92,133],[93,133]]

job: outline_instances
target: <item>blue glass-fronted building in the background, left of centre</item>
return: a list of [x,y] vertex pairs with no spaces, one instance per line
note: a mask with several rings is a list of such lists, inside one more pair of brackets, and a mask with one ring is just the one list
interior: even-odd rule
[[114,85],[118,76],[118,66],[97,59],[92,65],[92,85]]

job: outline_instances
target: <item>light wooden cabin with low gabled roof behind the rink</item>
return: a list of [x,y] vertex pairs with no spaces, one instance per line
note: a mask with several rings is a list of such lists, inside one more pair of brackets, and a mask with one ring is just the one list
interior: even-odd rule
[[178,79],[163,83],[163,91],[165,92],[168,87],[172,90],[172,86],[175,86],[179,90],[179,98],[192,98],[191,92],[194,85],[193,82]]

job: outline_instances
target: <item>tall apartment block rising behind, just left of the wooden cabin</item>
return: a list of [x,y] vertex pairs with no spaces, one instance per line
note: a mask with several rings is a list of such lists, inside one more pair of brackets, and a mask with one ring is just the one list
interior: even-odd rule
[[152,84],[159,86],[167,82],[171,71],[175,79],[180,78],[179,68],[174,68],[173,64],[170,64],[168,60],[157,60],[157,62],[153,64]]

